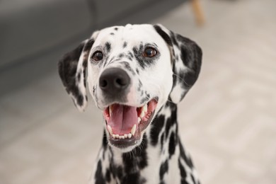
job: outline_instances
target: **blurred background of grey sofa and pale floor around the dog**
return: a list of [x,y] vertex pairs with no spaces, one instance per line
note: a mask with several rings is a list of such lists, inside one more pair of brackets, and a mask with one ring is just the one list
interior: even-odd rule
[[276,183],[275,0],[1,0],[0,184],[87,183],[102,137],[57,61],[94,30],[161,23],[203,50],[180,103],[180,135],[202,183]]

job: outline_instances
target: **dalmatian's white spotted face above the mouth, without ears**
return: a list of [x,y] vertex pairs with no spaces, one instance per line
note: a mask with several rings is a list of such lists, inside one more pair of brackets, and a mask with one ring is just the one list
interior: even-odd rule
[[146,108],[153,101],[155,109],[168,99],[173,85],[171,53],[152,25],[100,30],[88,58],[88,86],[98,108]]

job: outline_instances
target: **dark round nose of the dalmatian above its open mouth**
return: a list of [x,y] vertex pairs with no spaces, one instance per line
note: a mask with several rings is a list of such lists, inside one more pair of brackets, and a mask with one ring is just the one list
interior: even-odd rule
[[108,93],[118,93],[130,85],[130,76],[119,68],[105,69],[100,75],[100,88]]

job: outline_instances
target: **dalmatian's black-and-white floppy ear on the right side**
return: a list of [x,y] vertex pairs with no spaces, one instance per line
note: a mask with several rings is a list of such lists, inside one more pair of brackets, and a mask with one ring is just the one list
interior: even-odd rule
[[173,68],[173,88],[169,95],[173,103],[179,103],[200,74],[202,50],[188,38],[173,33],[163,25],[154,25],[171,51]]

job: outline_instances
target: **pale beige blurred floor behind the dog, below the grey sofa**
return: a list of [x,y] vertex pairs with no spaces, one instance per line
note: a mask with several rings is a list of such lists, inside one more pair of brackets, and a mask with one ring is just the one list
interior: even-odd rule
[[[154,21],[202,46],[199,81],[180,103],[180,134],[202,183],[276,183],[276,1],[203,1]],[[91,101],[91,100],[90,100]],[[86,183],[102,135],[53,71],[0,98],[0,183]]]

